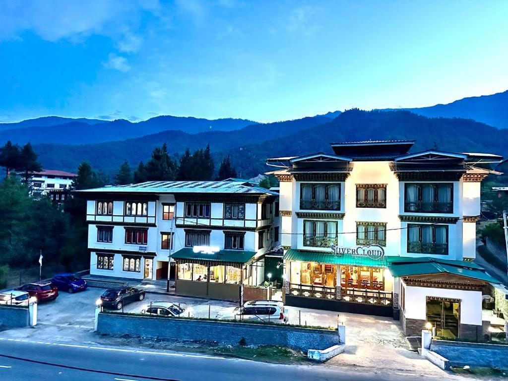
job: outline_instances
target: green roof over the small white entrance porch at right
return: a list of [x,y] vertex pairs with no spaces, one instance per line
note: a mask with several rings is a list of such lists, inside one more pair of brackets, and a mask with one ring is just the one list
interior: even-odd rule
[[388,269],[394,277],[449,273],[468,278],[499,283],[498,280],[485,272],[485,269],[473,262],[451,261],[431,257],[401,258],[388,257]]

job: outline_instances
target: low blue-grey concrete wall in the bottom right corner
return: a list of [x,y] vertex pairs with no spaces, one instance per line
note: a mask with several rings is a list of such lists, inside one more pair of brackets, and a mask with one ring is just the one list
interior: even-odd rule
[[450,360],[451,366],[508,369],[508,345],[432,340],[430,350]]

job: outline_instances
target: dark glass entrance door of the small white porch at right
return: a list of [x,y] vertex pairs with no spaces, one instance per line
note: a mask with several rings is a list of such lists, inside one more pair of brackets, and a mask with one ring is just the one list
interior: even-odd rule
[[436,328],[437,336],[458,337],[460,300],[427,298],[427,321]]

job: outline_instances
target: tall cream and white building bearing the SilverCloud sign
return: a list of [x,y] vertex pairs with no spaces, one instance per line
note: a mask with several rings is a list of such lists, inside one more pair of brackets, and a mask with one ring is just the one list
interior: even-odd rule
[[414,141],[332,144],[333,153],[270,158],[280,167],[284,300],[288,305],[398,317],[406,334],[482,336],[475,265],[480,163],[501,156]]

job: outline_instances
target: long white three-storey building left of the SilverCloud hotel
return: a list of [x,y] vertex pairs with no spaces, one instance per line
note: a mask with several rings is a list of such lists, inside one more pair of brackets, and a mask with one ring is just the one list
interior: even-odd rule
[[[247,180],[149,181],[78,191],[90,274],[167,279],[180,295],[237,300],[265,280],[279,243],[278,194]],[[171,258],[171,259],[170,259]]]

